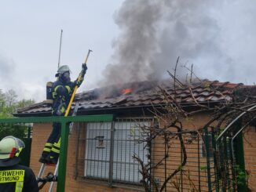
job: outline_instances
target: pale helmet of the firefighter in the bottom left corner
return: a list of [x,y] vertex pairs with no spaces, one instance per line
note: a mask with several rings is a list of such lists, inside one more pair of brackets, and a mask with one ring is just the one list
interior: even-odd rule
[[20,152],[25,148],[22,140],[14,136],[5,136],[0,141],[0,167],[16,165]]

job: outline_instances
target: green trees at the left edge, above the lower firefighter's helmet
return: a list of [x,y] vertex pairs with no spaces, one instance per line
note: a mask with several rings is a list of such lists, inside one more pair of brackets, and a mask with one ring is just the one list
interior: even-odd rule
[[[0,89],[0,118],[12,118],[13,113],[18,108],[27,107],[35,103],[34,100],[17,101],[16,92],[12,89],[8,92],[2,92]],[[27,127],[24,125],[0,124],[0,139],[5,136],[16,136],[20,139],[24,138]]]

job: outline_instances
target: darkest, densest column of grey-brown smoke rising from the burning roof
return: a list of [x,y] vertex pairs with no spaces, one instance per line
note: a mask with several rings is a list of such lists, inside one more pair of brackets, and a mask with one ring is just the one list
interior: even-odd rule
[[113,43],[115,54],[104,71],[104,83],[116,84],[148,79],[157,52],[157,31],[162,18],[158,1],[125,1],[115,16],[121,34]]

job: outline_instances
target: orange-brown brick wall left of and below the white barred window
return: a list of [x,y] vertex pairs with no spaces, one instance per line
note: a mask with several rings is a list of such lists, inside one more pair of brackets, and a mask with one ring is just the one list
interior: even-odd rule
[[[74,126],[75,127],[75,126]],[[35,124],[33,127],[33,139],[31,145],[31,168],[35,172],[35,175],[38,175],[41,163],[38,162],[38,159],[42,153],[42,149],[44,144],[46,143],[46,139],[48,138],[50,132],[52,130],[51,124]],[[86,181],[81,178],[75,179],[75,164],[76,164],[76,146],[78,142],[78,134],[76,127],[73,129],[72,135],[69,138],[68,143],[68,161],[67,161],[67,172],[66,172],[66,187],[65,191],[90,191],[90,192],[134,192],[141,190],[130,190],[126,187],[132,186],[123,186],[123,187],[108,187],[108,183],[101,181]],[[83,132],[81,132],[83,135]],[[84,135],[83,135],[84,136]],[[82,143],[82,142],[80,142]],[[84,151],[83,144],[80,147],[80,158],[82,158],[82,152]],[[81,159],[79,160],[79,172],[83,172]],[[54,172],[53,167],[47,167],[45,171],[45,175],[48,172]],[[133,187],[135,188],[135,187]],[[48,192],[49,183],[43,187],[42,192]]]

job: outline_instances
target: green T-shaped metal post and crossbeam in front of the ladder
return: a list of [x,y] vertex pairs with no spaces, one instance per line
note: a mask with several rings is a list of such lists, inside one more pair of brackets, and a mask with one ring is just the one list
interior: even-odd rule
[[66,181],[66,165],[68,152],[68,135],[70,122],[89,122],[89,121],[112,121],[112,114],[102,115],[81,115],[72,117],[32,117],[32,118],[2,118],[0,123],[45,123],[60,122],[61,124],[61,140],[60,140],[60,161],[58,169],[57,192],[65,190]]

